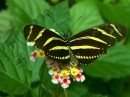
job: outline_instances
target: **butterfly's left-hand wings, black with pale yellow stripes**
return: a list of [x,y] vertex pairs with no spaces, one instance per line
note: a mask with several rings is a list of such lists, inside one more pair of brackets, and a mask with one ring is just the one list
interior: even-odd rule
[[24,27],[24,36],[29,42],[35,42],[35,46],[44,50],[50,59],[63,65],[70,62],[70,55],[66,43],[62,37],[52,30],[38,25]]

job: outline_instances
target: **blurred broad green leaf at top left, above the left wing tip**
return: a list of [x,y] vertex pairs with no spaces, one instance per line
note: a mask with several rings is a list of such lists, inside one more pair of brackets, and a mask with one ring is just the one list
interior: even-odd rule
[[7,6],[17,25],[31,23],[49,7],[43,0],[7,0]]

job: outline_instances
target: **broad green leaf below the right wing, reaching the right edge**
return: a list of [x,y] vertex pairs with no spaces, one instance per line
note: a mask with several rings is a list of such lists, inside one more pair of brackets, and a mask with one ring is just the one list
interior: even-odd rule
[[119,78],[130,75],[130,51],[123,45],[112,47],[108,54],[100,57],[88,67],[88,75],[102,78]]

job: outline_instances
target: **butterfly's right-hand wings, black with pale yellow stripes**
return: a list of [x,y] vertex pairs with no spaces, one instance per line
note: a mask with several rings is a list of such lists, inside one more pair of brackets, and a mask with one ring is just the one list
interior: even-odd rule
[[79,63],[90,64],[107,53],[107,48],[115,44],[116,38],[123,39],[125,36],[126,29],[122,25],[100,25],[71,37],[70,48]]

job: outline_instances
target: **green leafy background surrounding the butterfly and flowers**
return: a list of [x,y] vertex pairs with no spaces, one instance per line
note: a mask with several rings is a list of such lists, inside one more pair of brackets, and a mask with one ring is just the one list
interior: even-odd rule
[[86,81],[72,82],[67,92],[69,97],[130,97],[130,0],[70,0],[69,7],[62,1],[6,0],[7,8],[0,11],[0,97],[38,97],[39,89],[41,97],[65,97],[62,88],[51,83],[44,60],[30,61],[35,47],[28,47],[23,36],[23,27],[30,23],[63,35],[46,14],[69,36],[103,23],[126,26],[126,39],[82,66]]

